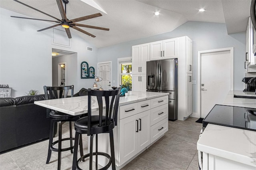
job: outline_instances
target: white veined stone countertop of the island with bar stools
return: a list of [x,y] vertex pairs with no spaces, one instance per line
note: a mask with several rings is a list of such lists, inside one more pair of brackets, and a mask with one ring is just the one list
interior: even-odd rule
[[[169,93],[158,92],[144,92],[144,91],[128,91],[125,93],[125,97],[120,97],[119,106],[137,103],[139,101],[145,101],[154,99],[156,97],[162,97],[169,95]],[[69,115],[81,115],[88,113],[88,96],[68,97],[64,99],[52,99],[44,101],[35,101],[34,104],[60,111]],[[105,104],[105,102],[103,102]],[[103,105],[103,107],[105,107]],[[96,97],[92,97],[92,111],[98,110],[98,102]]]

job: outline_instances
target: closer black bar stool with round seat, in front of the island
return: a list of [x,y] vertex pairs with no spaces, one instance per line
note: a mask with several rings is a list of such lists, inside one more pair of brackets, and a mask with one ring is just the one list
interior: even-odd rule
[[[92,96],[96,96],[99,107],[99,114],[92,115]],[[88,89],[88,116],[82,117],[75,122],[75,148],[73,155],[73,166],[72,170],[81,168],[78,166],[79,162],[84,160],[84,158],[90,157],[90,170],[92,170],[92,156],[96,156],[96,170],[98,169],[98,155],[106,156],[109,162],[106,166],[100,170],[106,170],[112,164],[112,170],[116,169],[115,164],[115,153],[114,153],[114,136],[113,128],[116,126],[118,104],[120,97],[120,89],[111,91],[99,91]],[[105,100],[105,106],[103,101]],[[106,109],[105,115],[103,115],[103,109]],[[98,134],[109,133],[110,136],[110,150],[111,156],[107,153],[98,152]],[[87,134],[90,136],[90,153],[81,156],[77,160],[78,153],[78,141],[82,137],[81,134]],[[96,136],[96,152],[93,152],[93,137]]]

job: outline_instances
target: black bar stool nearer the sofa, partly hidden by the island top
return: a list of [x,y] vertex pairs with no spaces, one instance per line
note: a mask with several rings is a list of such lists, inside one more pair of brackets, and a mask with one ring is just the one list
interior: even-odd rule
[[[45,99],[60,99],[68,97],[68,91],[71,90],[70,97],[73,97],[74,93],[74,85],[72,86],[60,86],[60,87],[46,87],[44,86],[44,95]],[[80,115],[72,116],[58,111],[50,111],[48,115],[51,119],[50,123],[50,134],[49,134],[49,145],[48,145],[48,156],[46,160],[46,164],[49,163],[52,151],[58,152],[58,170],[61,167],[61,152],[70,150],[73,153],[73,140],[75,138],[72,137],[72,121],[77,121],[80,118]],[[62,139],[62,125],[65,122],[69,122],[69,130],[70,130],[70,137]],[[59,132],[58,132],[58,140],[53,142],[53,135],[54,135],[54,125],[58,123]],[[70,140],[70,147],[62,148],[62,141]],[[54,148],[54,145],[58,143],[58,148]],[[82,146],[82,138],[80,138],[80,154],[83,155],[83,146]]]

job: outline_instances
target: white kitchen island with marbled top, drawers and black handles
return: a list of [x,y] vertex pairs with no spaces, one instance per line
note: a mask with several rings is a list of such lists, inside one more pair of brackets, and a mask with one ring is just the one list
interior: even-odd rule
[[[113,129],[117,169],[136,158],[168,131],[168,95],[169,93],[128,91],[125,97],[120,97],[117,126]],[[88,113],[87,96],[34,103],[70,115]],[[92,111],[93,114],[98,111],[95,97],[92,97]],[[98,150],[110,153],[109,135],[99,134],[98,138]],[[98,162],[104,166],[108,161],[99,156]]]

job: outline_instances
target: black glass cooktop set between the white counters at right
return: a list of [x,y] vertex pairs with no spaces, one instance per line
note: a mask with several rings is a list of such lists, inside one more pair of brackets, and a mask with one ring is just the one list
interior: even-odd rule
[[203,127],[208,123],[256,131],[256,109],[215,105],[203,120]]

